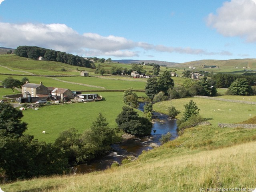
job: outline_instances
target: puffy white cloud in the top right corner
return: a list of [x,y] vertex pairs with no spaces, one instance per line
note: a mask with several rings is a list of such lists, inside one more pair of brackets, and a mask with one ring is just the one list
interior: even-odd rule
[[224,36],[240,36],[256,42],[256,0],[224,2],[216,14],[209,14],[207,24]]

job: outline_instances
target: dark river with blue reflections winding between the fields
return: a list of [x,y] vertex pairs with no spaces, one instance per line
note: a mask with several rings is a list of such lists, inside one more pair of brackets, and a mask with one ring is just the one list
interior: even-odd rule
[[[139,110],[143,111],[145,103],[139,104]],[[93,171],[105,170],[113,164],[113,162],[119,162],[127,158],[127,156],[138,157],[143,150],[151,150],[149,146],[151,143],[160,145],[159,139],[163,134],[167,132],[171,133],[170,140],[175,139],[178,136],[177,124],[175,119],[169,118],[169,116],[157,112],[153,112],[154,124],[150,136],[143,138],[133,138],[124,140],[123,142],[112,144],[111,152],[109,154],[93,160],[89,164],[80,164],[73,168],[75,173],[89,173]]]

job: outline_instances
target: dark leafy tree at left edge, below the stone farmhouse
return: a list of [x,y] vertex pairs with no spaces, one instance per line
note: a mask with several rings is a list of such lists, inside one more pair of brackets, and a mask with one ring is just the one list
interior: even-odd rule
[[9,103],[0,103],[0,130],[4,134],[21,136],[27,130],[27,124],[21,121],[22,111]]

